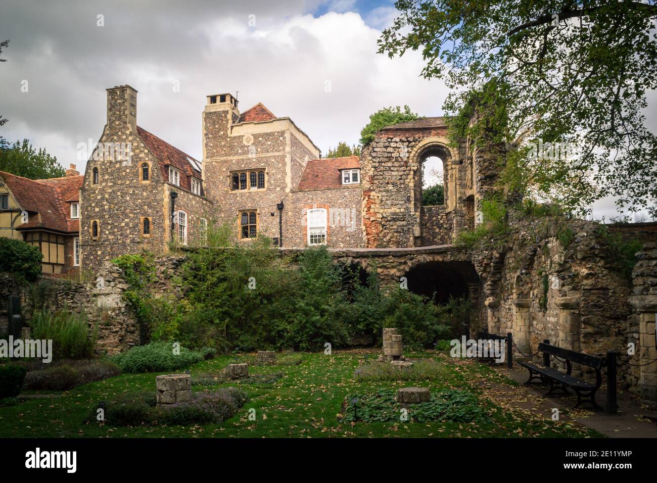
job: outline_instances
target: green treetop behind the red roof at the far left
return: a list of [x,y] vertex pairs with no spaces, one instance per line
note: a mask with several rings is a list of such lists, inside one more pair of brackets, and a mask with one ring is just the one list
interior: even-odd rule
[[28,139],[0,149],[0,171],[30,179],[63,176],[66,170],[45,149],[35,150]]

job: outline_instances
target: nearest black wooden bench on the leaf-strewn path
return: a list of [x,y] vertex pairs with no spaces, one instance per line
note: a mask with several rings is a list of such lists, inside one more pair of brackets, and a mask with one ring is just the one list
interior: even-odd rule
[[[549,383],[550,390],[545,393],[545,396],[555,395],[556,391],[561,394],[570,394],[568,388],[575,391],[577,394],[577,403],[574,407],[579,407],[583,403],[591,403],[593,409],[600,410],[600,407],[595,402],[595,393],[599,390],[602,384],[602,369],[607,365],[607,359],[604,357],[591,356],[583,352],[576,352],[574,350],[563,349],[556,346],[551,346],[546,342],[538,344],[538,350],[543,352],[543,366],[540,367],[531,362],[518,361],[519,365],[525,367],[530,372],[530,379],[525,384],[532,384],[532,380],[538,379],[540,382]],[[550,367],[550,356],[555,356],[566,361],[566,372],[558,371]],[[595,382],[588,382],[571,375],[572,363],[585,365],[595,369]],[[614,381],[615,387],[615,381]],[[582,398],[585,398],[582,400]],[[615,403],[615,402],[614,402]]]

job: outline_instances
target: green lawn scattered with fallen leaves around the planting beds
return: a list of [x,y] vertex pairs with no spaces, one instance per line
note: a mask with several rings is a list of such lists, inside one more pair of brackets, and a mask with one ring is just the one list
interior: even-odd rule
[[[512,386],[509,379],[475,361],[449,359],[446,353],[422,352],[411,357],[436,357],[445,363],[446,376],[440,380],[422,382],[361,382],[353,371],[364,362],[365,354],[372,361],[377,351],[334,352],[304,354],[300,365],[250,365],[252,380],[233,381],[220,385],[194,385],[193,391],[212,390],[219,386],[238,386],[250,401],[235,417],[221,425],[202,426],[141,426],[112,427],[100,423],[83,423],[85,417],[100,401],[111,401],[125,392],[155,392],[154,373],[123,374],[100,382],[91,382],[73,390],[55,393],[55,398],[22,401],[0,407],[0,437],[567,437],[600,436],[593,430],[574,423],[553,422],[533,415],[530,411],[505,406],[489,398],[489,390],[482,381],[493,386]],[[240,359],[240,357],[238,357]],[[244,356],[242,360],[252,360]],[[222,356],[191,367],[192,377],[217,373],[233,357]],[[275,382],[272,382],[275,380]],[[435,421],[416,423],[350,423],[342,421],[343,403],[349,394],[368,394],[380,389],[405,386],[430,388],[432,394],[442,389],[467,389],[477,394],[480,405],[491,419],[490,423],[455,423]],[[495,401],[495,402],[493,402]],[[256,409],[256,421],[248,420],[249,409]]]

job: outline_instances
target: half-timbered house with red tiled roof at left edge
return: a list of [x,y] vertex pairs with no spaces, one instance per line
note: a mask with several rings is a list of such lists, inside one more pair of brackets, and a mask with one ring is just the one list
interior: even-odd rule
[[28,179],[0,172],[0,237],[24,240],[43,254],[49,275],[70,275],[80,263],[79,189],[72,164],[66,176]]

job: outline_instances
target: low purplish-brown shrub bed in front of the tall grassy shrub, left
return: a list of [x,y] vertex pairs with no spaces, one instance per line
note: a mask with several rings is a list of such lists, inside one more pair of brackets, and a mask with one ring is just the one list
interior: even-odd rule
[[110,361],[66,361],[55,367],[28,372],[24,388],[66,391],[80,384],[118,376],[120,367]]

